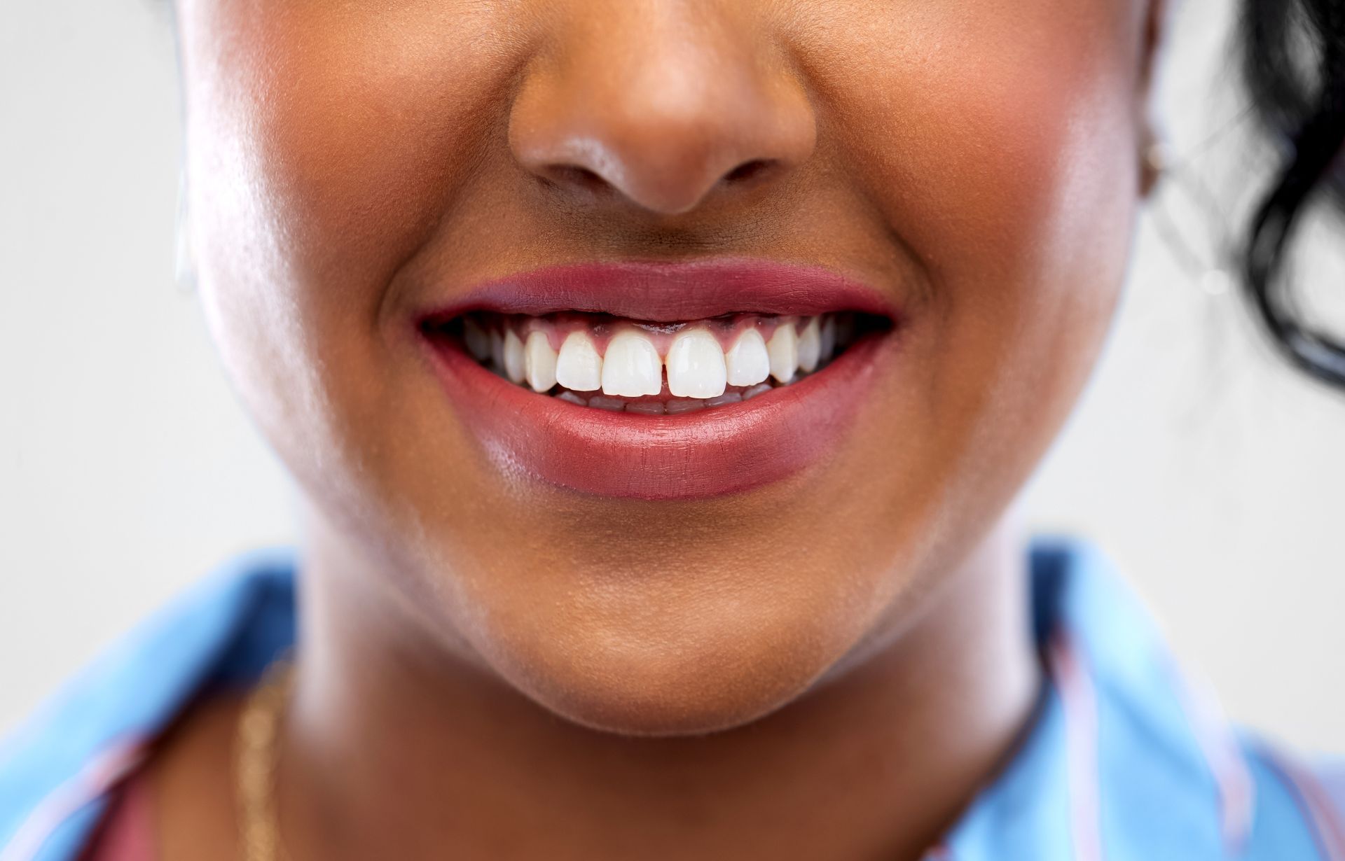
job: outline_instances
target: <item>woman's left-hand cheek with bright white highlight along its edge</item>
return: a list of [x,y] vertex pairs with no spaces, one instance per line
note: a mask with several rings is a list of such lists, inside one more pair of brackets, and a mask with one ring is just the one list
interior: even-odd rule
[[482,4],[383,5],[183,0],[179,16],[207,316],[307,484],[339,481],[315,450],[381,457],[362,435],[414,376],[389,372],[381,314],[398,269],[482,175],[516,50],[499,43],[516,21]]

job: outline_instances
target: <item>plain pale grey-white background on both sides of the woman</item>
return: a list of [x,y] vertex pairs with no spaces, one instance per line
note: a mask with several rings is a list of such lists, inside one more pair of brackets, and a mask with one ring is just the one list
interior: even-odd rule
[[[4,4],[0,732],[192,578],[293,536],[289,485],[174,279],[161,5]],[[1161,107],[1181,152],[1237,113],[1225,5],[1190,0],[1174,28]],[[1239,177],[1243,149],[1225,134],[1200,164]],[[1153,224],[1103,364],[1028,490],[1032,524],[1098,541],[1232,716],[1345,751],[1345,398],[1276,365]],[[1305,270],[1345,294],[1338,258]]]

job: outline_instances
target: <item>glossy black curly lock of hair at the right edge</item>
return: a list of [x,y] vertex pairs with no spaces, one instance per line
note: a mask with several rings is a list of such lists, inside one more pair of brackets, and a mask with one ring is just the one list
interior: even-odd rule
[[1305,317],[1286,275],[1306,207],[1345,210],[1345,0],[1244,0],[1240,27],[1252,109],[1280,152],[1247,230],[1243,283],[1278,351],[1345,391],[1345,343]]

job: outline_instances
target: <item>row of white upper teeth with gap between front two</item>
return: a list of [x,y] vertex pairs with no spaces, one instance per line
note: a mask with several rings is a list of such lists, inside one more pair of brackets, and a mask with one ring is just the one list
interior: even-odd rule
[[[838,341],[837,321],[824,317],[780,317],[773,320],[769,337],[752,318],[718,334],[710,324],[670,326],[617,325],[600,351],[603,326],[570,328],[561,338],[561,329],[541,318],[529,318],[521,326],[502,325],[487,329],[472,318],[464,320],[464,341],[479,360],[490,360],[515,383],[526,383],[538,392],[557,384],[572,392],[597,392],[609,398],[644,398],[667,392],[674,399],[717,399],[713,404],[732,403],[752,396],[768,377],[779,384],[794,380],[802,371],[810,373],[831,357]],[[519,332],[525,333],[522,337]],[[554,336],[554,337],[553,337]],[[724,345],[728,344],[728,349]],[[728,387],[752,391],[728,392]],[[687,402],[691,404],[693,402]],[[668,411],[683,408],[668,404]]]

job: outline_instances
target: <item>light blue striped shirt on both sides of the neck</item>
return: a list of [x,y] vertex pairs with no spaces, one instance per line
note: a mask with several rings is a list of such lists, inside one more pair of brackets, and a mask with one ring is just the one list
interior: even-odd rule
[[[1049,685],[928,861],[1345,861],[1345,768],[1231,727],[1092,545],[1038,536],[1029,556]],[[77,858],[109,791],[199,692],[256,681],[292,645],[295,564],[233,560],[0,745],[0,861]]]

